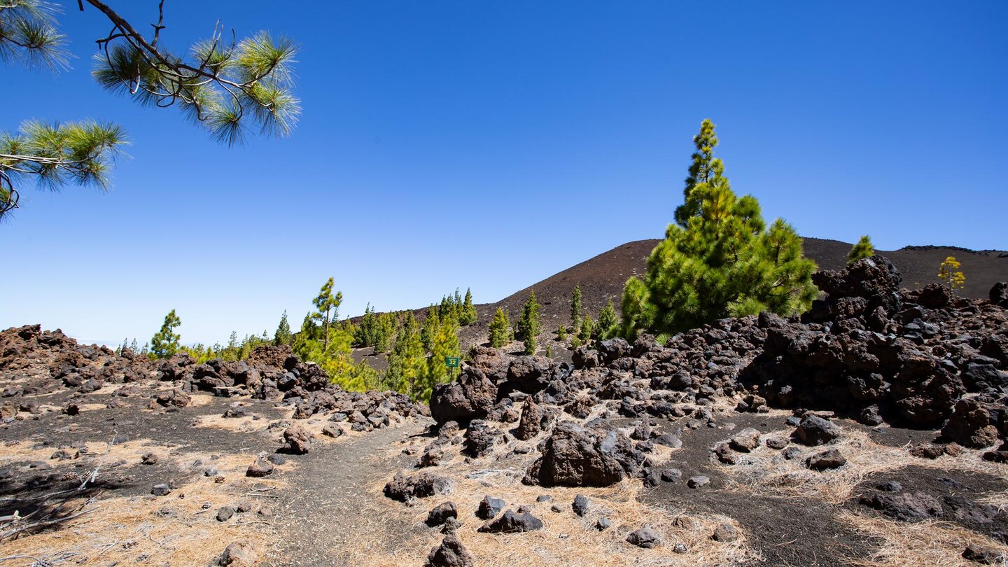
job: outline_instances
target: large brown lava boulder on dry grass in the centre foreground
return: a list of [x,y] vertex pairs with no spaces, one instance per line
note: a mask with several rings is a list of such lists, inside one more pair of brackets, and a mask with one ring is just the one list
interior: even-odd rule
[[540,445],[542,456],[529,467],[529,484],[608,486],[640,474],[643,455],[618,430],[599,432],[560,422]]

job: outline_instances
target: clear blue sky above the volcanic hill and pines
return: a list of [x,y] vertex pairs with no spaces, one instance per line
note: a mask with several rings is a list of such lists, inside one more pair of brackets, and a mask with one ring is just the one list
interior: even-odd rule
[[296,328],[331,275],[343,315],[456,287],[497,301],[660,237],[704,118],[736,192],[802,235],[1008,247],[1002,0],[167,0],[175,45],[217,18],[301,44],[299,127],[236,148],[101,91],[110,26],[61,4],[75,69],[3,67],[0,130],[115,120],[130,157],[108,194],[24,189],[0,225],[0,328],[142,344],[176,309],[183,342],[225,342],[283,310]]

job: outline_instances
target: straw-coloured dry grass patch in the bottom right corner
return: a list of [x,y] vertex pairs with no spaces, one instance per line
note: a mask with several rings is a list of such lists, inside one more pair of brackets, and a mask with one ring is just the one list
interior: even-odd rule
[[[848,559],[851,565],[966,567],[976,565],[962,556],[963,550],[970,544],[1008,557],[1008,546],[946,522],[896,522],[850,512],[841,513],[837,520],[878,544],[878,548],[867,558]],[[999,564],[1004,566],[1008,560]]]

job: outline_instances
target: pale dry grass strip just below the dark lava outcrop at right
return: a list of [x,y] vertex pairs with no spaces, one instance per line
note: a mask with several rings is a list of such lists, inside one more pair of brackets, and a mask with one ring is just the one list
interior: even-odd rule
[[[789,433],[790,430],[781,430],[764,438],[786,437]],[[763,495],[813,497],[829,503],[841,503],[850,498],[858,484],[870,475],[907,466],[1008,476],[1008,465],[983,460],[983,451],[967,449],[959,457],[922,459],[910,455],[905,447],[880,445],[872,441],[867,433],[851,428],[836,443],[830,445],[793,446],[800,448],[801,453],[792,460],[784,459],[780,451],[763,444],[748,455],[740,454],[743,459],[741,464],[724,467],[730,478],[730,486]],[[847,458],[847,464],[825,472],[805,467],[805,458],[828,449],[839,449]]]

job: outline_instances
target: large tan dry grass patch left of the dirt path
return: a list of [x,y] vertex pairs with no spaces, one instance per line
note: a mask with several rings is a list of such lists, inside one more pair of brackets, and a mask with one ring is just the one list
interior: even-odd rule
[[[89,444],[88,457],[101,458],[104,444]],[[10,448],[5,448],[10,449]],[[143,441],[113,446],[106,462],[125,458],[127,463],[139,463],[139,456],[155,453],[167,459],[169,467],[193,473],[191,481],[168,496],[103,497],[99,494],[88,502],[84,498],[64,506],[67,514],[90,508],[92,512],[60,524],[58,529],[22,536],[3,544],[4,556],[27,555],[36,558],[71,558],[80,565],[141,563],[158,565],[206,565],[231,542],[246,540],[262,552],[268,541],[268,519],[255,514],[261,505],[272,505],[271,498],[253,493],[271,493],[284,486],[273,478],[248,479],[245,468],[254,455],[210,455],[204,452],[168,450]],[[216,457],[216,458],[215,458]],[[196,461],[201,466],[194,466]],[[289,463],[289,461],[288,461]],[[202,475],[207,466],[214,466],[224,477],[223,483]],[[280,468],[292,468],[292,464]],[[265,488],[266,491],[261,490]],[[225,523],[217,522],[216,512],[223,505],[235,505],[251,500],[251,513],[236,515]],[[205,508],[205,502],[210,507]],[[167,512],[167,514],[159,514]],[[261,553],[260,553],[261,556]],[[11,565],[30,565],[31,560]],[[5,563],[6,565],[6,563]]]

